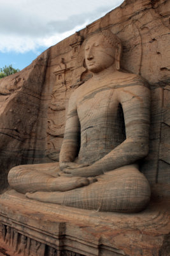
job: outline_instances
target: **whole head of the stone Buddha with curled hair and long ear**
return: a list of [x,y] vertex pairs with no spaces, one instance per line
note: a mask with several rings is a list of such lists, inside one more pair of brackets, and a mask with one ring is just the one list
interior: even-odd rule
[[120,39],[110,31],[101,31],[92,35],[85,45],[85,62],[89,71],[101,72],[105,68],[115,66],[120,69],[122,44]]

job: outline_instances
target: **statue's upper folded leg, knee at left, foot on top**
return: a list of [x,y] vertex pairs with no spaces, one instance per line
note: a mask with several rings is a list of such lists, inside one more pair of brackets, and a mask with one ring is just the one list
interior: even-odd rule
[[59,177],[59,163],[27,164],[12,168],[8,174],[11,188],[20,193],[69,191],[95,181],[84,177]]

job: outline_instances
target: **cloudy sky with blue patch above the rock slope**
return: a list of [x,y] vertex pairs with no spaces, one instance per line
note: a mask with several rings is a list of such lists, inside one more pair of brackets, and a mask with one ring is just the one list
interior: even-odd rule
[[22,70],[41,52],[123,0],[0,0],[0,68]]

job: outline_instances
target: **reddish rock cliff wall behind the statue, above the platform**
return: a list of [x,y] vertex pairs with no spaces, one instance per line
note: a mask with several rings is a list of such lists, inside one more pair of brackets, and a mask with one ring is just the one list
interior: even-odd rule
[[150,183],[169,183],[169,1],[125,1],[87,28],[0,81],[1,189],[12,166],[58,160],[71,92],[92,75],[85,39],[110,29],[123,42],[122,68],[139,74],[152,90],[150,153],[141,171]]

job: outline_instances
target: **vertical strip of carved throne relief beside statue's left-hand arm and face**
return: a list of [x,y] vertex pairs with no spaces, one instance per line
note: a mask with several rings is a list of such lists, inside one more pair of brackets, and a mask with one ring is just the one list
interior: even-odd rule
[[[59,65],[55,68],[53,74],[56,77],[51,95],[51,102],[48,110],[48,128],[47,128],[47,152],[46,156],[50,159],[59,158],[60,142],[56,138],[64,136],[65,128],[65,112],[64,120],[59,120],[62,111],[66,110],[67,101],[71,92],[78,88],[84,81],[81,80],[81,74],[85,72],[83,66],[84,57],[81,55],[81,44],[83,42],[80,33],[76,32],[74,42],[70,44],[71,58],[65,60],[60,59]],[[55,150],[56,149],[56,150]]]

